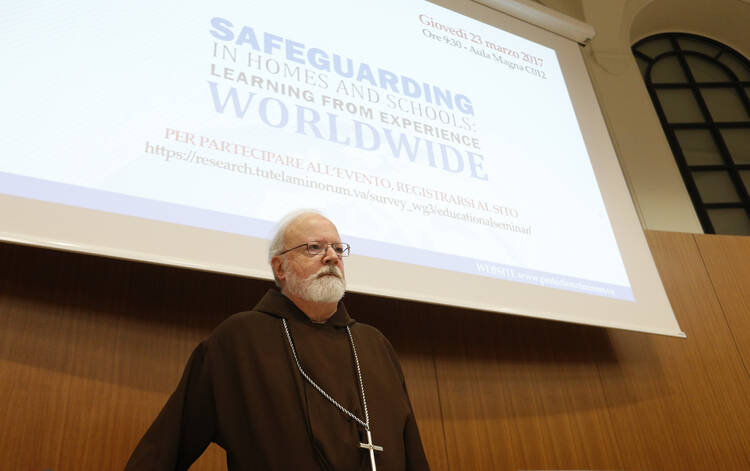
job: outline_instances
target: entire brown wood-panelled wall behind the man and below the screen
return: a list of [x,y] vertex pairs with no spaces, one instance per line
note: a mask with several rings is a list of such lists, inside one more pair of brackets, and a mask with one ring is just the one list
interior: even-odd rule
[[[396,348],[434,470],[750,469],[750,239],[648,237],[688,339],[347,296]],[[268,286],[0,244],[3,469],[121,469]]]

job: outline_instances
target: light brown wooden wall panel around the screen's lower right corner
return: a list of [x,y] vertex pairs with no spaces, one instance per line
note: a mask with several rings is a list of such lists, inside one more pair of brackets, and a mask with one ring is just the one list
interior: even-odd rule
[[693,235],[647,235],[688,338],[609,332],[618,361],[600,371],[624,467],[750,469],[750,378]]

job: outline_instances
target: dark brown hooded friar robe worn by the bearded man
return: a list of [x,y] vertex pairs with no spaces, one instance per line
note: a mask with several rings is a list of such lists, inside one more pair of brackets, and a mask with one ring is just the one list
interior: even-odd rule
[[193,351],[177,389],[148,429],[126,471],[185,470],[211,442],[231,471],[370,469],[361,427],[299,373],[281,318],[287,319],[302,367],[329,395],[364,418],[352,348],[362,370],[378,470],[427,470],[396,354],[374,327],[339,303],[325,324],[311,322],[278,290],[253,311],[222,322]]

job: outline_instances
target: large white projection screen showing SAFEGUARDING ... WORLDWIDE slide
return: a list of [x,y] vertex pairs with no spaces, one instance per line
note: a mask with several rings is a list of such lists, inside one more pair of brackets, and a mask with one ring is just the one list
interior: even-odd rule
[[270,279],[276,221],[318,208],[351,291],[684,335],[572,41],[468,1],[0,24],[5,241]]

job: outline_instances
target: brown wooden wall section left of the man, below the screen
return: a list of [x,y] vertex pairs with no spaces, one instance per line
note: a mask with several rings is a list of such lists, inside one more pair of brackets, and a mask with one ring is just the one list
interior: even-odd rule
[[[8,469],[123,468],[195,345],[267,287],[29,247],[0,247],[0,262]],[[212,450],[193,469],[223,463]]]

